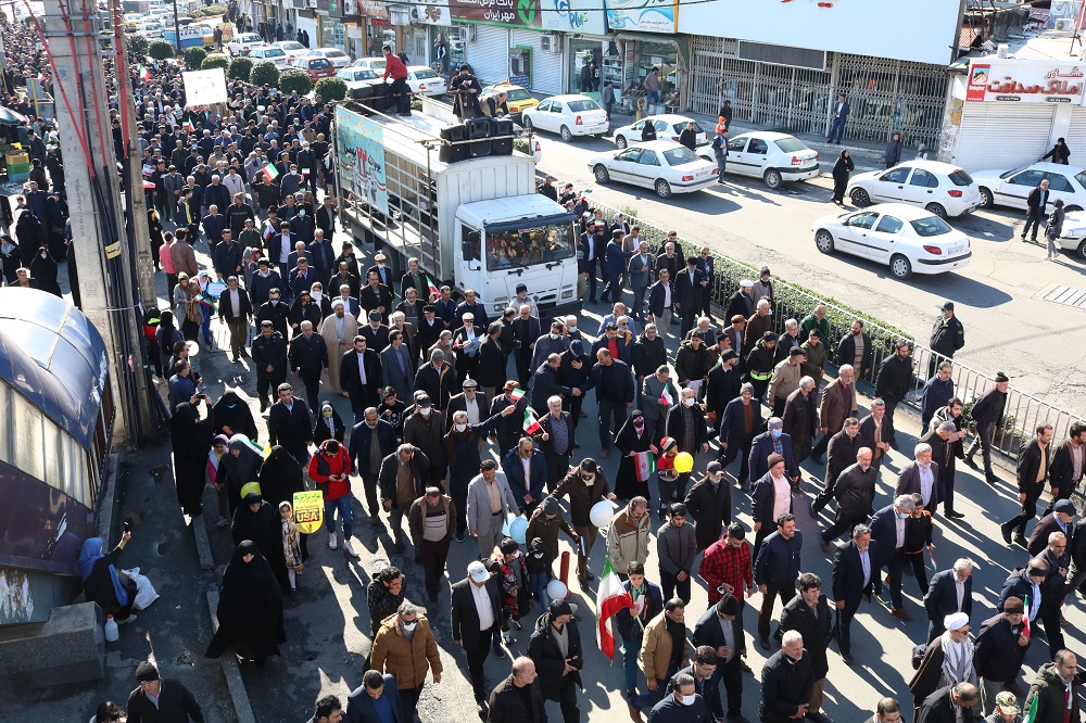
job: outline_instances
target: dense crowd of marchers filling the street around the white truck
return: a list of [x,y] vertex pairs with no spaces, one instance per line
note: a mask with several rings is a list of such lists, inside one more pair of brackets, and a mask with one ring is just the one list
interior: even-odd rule
[[[604,218],[550,178],[541,192],[579,218],[582,296],[595,303],[599,291],[610,313],[592,330],[577,316],[541,320],[526,286],[495,313],[470,290],[454,297],[416,259],[396,275],[381,253],[367,266],[352,243],[333,245],[343,228],[334,129],[319,99],[237,81],[225,106],[190,109],[168,65],[136,88],[148,219],[168,297],[168,308],[149,315],[147,339],[166,382],[178,502],[199,516],[213,486],[216,523],[230,528],[236,545],[207,656],[232,649],[264,663],[279,654],[283,600],[316,543],[294,522],[293,495],[315,489],[328,548],[359,556],[362,510],[367,524],[390,531],[392,551],[411,550],[421,573],[414,587],[406,570],[371,571],[367,670],[346,701],[316,701],[315,723],[415,720],[427,676],[442,676],[420,604],[425,596],[429,611],[438,609],[446,574],[451,637],[466,657],[480,716],[542,723],[551,700],[567,723],[581,720],[591,676],[582,634],[593,616],[566,599],[555,574],[559,534],[576,550],[578,584],[595,593],[601,647],[613,658],[621,648],[634,721],[743,720],[750,635],[767,655],[776,648],[759,672],[759,719],[825,723],[831,650],[854,664],[854,617],[861,600],[882,599],[884,585],[891,613],[912,616],[906,571],[923,598],[927,636],[917,640],[911,695],[876,701],[872,721],[899,721],[906,697],[920,723],[961,723],[981,711],[990,723],[1018,723],[1023,710],[1031,723],[1078,720],[1077,663],[1064,647],[1061,606],[1068,593],[1086,591],[1086,522],[1070,500],[1082,481],[1086,426],[1073,424],[1066,440],[1041,426],[1023,445],[1021,512],[1001,528],[1008,544],[1024,548],[1022,565],[997,609],[974,616],[975,563],[963,557],[929,580],[924,555],[937,525],[965,517],[955,507],[957,461],[976,468],[980,452],[985,478],[997,480],[1005,375],[967,415],[950,360],[918,380],[906,342],[872,369],[860,319],[841,339],[831,338],[823,305],[774,319],[768,268],[729,290],[717,324],[707,248],[685,256],[674,233],[653,248],[621,215]],[[63,199],[62,176],[48,170],[38,186],[51,183]],[[5,238],[0,246],[5,259],[10,245]],[[250,370],[244,385],[260,398],[258,415],[236,391],[214,404],[201,392],[190,354],[193,343],[213,347],[216,318],[228,332],[223,351]],[[963,345],[948,302],[931,346],[950,359]],[[869,372],[875,394],[860,415],[856,380]],[[923,435],[901,451],[895,409],[911,394],[921,399]],[[592,434],[599,459],[578,454]],[[606,461],[613,455],[617,465]],[[912,461],[897,466],[894,495],[880,500],[891,455]],[[824,466],[819,489],[804,482],[807,460]],[[1027,530],[1046,484],[1051,502]],[[352,505],[355,491],[365,506]],[[804,572],[817,555],[796,530],[808,492],[809,513],[823,525],[821,550],[833,559],[830,580]],[[737,519],[747,499],[753,529]],[[822,516],[831,505],[834,513]],[[466,571],[447,569],[453,543],[469,537],[478,559]],[[114,567],[127,536],[110,553],[96,542],[80,557],[88,599],[130,622],[131,591]],[[657,570],[646,566],[651,547]],[[687,617],[695,580],[709,606]],[[758,622],[748,631],[743,611],[755,600]],[[983,620],[975,634],[971,620]],[[484,661],[506,657],[510,629],[525,625],[526,655],[488,685]],[[1037,626],[1053,662],[1027,692],[1016,681]],[[128,721],[203,720],[195,697],[160,680],[154,665],[141,664],[137,680]],[[103,705],[98,720],[119,715]]]

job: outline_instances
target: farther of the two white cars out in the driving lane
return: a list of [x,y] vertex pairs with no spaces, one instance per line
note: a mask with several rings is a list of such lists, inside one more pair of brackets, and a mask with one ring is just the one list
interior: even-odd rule
[[589,160],[597,183],[613,180],[643,186],[661,199],[700,191],[717,182],[717,165],[674,141],[648,141]]

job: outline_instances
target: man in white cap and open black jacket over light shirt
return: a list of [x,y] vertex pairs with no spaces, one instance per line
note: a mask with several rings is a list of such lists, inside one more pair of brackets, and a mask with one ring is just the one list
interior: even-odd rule
[[[485,588],[484,602],[476,604],[472,588]],[[453,642],[467,654],[476,709],[484,715],[487,692],[483,689],[483,663],[490,654],[494,631],[501,630],[504,622],[497,580],[491,576],[482,562],[476,560],[468,565],[468,576],[453,584],[450,597]]]

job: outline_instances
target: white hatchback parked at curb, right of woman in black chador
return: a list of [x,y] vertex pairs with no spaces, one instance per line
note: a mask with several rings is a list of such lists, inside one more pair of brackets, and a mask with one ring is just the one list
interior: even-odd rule
[[981,205],[976,181],[958,166],[938,161],[906,161],[886,170],[856,174],[845,194],[857,206],[909,203],[939,218],[972,213]]

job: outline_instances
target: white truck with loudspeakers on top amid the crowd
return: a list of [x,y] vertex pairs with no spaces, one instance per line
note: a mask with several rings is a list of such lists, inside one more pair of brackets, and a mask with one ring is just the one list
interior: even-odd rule
[[355,239],[384,251],[393,278],[418,258],[437,287],[473,290],[491,319],[520,283],[544,319],[578,314],[573,215],[535,192],[535,161],[518,151],[442,161],[450,126],[417,111],[392,118],[336,106],[342,214]]

